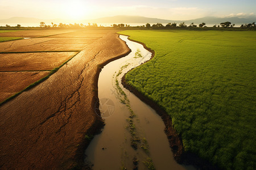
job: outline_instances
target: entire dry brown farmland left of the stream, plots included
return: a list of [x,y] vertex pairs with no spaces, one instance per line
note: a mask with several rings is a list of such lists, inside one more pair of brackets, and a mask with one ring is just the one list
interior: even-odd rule
[[89,143],[85,137],[102,125],[94,112],[100,68],[130,52],[115,32],[0,33],[35,37],[0,42],[0,100],[23,91],[0,105],[1,169],[71,169],[82,164]]

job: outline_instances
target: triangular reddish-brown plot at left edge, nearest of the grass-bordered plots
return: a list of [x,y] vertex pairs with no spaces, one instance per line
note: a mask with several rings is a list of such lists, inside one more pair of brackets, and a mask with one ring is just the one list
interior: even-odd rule
[[0,72],[0,103],[48,74],[49,71]]

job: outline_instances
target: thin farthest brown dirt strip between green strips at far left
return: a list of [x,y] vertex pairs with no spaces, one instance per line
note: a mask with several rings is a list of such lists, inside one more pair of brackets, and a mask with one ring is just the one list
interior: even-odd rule
[[68,29],[24,30],[24,31],[16,31],[16,32],[2,32],[0,33],[0,37],[42,37],[42,36],[56,35],[60,33],[68,33],[73,31],[75,30],[68,30]]

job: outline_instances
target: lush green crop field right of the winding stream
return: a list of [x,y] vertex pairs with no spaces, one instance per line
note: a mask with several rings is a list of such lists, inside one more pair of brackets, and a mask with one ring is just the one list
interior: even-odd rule
[[126,80],[163,107],[195,152],[256,169],[256,31],[122,31],[155,50]]

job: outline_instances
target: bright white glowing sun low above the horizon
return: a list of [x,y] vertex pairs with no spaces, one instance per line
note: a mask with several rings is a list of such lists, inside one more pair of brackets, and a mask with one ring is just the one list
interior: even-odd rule
[[80,20],[88,17],[90,8],[83,1],[67,2],[64,5],[64,13],[68,19]]

